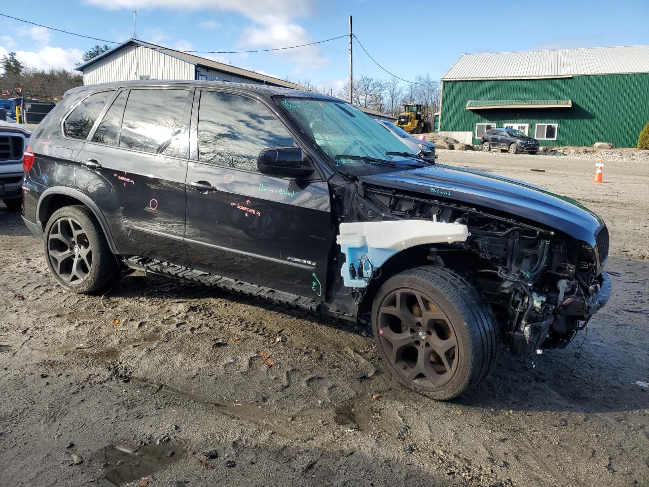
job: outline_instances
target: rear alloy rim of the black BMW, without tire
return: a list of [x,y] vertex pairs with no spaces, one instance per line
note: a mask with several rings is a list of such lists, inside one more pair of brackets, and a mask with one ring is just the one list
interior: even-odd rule
[[78,221],[59,218],[47,235],[48,258],[58,277],[71,286],[81,284],[92,269],[92,246]]

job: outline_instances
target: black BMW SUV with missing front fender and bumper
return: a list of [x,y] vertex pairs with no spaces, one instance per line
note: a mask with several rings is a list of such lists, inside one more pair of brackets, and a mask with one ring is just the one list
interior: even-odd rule
[[138,270],[371,321],[395,378],[434,399],[482,381],[502,345],[565,347],[611,292],[596,214],[435,164],[323,95],[76,88],[23,166],[23,218],[66,290]]

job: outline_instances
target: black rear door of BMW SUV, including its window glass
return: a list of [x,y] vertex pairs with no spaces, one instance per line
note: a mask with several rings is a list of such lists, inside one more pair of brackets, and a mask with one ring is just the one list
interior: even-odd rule
[[185,175],[193,91],[121,90],[77,156],[77,188],[99,206],[121,254],[187,264]]

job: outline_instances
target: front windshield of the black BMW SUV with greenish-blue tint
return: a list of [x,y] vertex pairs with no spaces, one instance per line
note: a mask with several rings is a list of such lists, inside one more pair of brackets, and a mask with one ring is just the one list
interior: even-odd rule
[[[398,169],[411,167],[415,160],[389,152],[413,151],[385,127],[355,106],[341,101],[285,98],[281,105],[313,142],[344,172],[355,175],[386,172],[386,166],[370,166],[361,160],[341,156],[367,156],[388,160]],[[378,169],[378,170],[377,170]]]

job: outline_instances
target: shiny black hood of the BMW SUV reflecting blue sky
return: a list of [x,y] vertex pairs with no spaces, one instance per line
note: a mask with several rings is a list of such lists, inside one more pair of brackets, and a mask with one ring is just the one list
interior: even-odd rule
[[367,184],[504,212],[568,234],[591,247],[595,245],[598,227],[604,224],[578,201],[541,186],[444,164],[359,179]]

